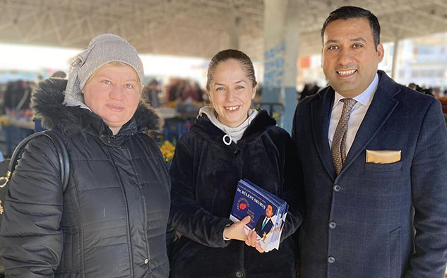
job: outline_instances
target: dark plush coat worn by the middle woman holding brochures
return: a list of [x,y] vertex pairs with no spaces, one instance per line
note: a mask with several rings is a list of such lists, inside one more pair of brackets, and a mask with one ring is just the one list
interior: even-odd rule
[[[171,277],[295,277],[290,235],[302,223],[297,155],[290,135],[261,111],[237,144],[203,115],[177,142],[169,174],[169,222],[183,236],[174,247]],[[243,241],[224,241],[239,179],[249,179],[290,205],[280,250],[258,253]]]

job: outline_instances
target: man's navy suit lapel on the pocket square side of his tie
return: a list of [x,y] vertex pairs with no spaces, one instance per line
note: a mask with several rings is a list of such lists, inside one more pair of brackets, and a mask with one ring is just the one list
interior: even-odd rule
[[347,154],[340,175],[363,152],[366,145],[374,138],[374,135],[376,135],[391,113],[393,113],[395,107],[398,106],[399,102],[393,96],[400,92],[400,88],[384,72],[379,71],[379,77],[381,79],[379,80],[376,93],[369,105],[368,111],[366,111],[359,131],[355,135],[354,142]]

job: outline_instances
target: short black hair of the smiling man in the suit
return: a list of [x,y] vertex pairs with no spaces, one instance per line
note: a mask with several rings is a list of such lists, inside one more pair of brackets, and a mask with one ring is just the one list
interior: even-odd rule
[[377,49],[377,45],[380,44],[379,20],[376,16],[374,16],[374,13],[371,13],[371,11],[354,6],[342,6],[329,14],[328,18],[326,18],[326,21],[323,24],[323,28],[321,28],[321,40],[323,41],[324,31],[329,23],[338,19],[348,20],[350,18],[365,18],[369,21],[369,26],[371,27],[371,32],[374,37],[374,45]]

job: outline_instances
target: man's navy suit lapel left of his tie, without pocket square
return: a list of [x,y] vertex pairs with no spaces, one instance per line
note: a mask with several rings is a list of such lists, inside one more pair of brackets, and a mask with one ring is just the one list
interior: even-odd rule
[[330,155],[328,141],[330,113],[334,101],[334,90],[328,87],[320,92],[320,97],[311,103],[311,126],[314,142],[321,162],[328,174],[334,179],[335,169]]

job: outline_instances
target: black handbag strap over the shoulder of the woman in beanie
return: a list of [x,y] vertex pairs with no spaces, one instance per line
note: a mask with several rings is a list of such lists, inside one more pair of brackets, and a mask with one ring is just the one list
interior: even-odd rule
[[23,139],[20,143],[18,143],[16,149],[13,152],[13,155],[11,156],[11,161],[9,162],[8,166],[8,172],[5,176],[0,177],[0,188],[6,186],[6,183],[8,183],[9,179],[11,179],[11,176],[13,175],[14,169],[16,169],[16,165],[18,163],[18,159],[20,159],[20,156],[22,155],[23,150],[25,149],[25,146],[30,142],[30,140],[36,138],[45,136],[52,140],[54,143],[54,146],[56,147],[57,157],[59,160],[59,168],[61,171],[61,185],[63,192],[66,191],[66,188],[68,186],[68,176],[70,176],[70,159],[68,157],[68,151],[66,149],[66,146],[64,144],[64,141],[62,141],[62,138],[52,132],[52,131],[42,131],[38,133],[34,133],[29,135],[27,138]]

